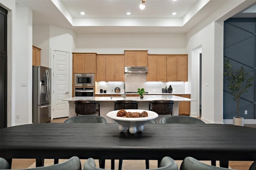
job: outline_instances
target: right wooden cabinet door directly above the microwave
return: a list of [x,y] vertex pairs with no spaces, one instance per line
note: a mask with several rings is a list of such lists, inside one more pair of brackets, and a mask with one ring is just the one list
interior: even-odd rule
[[85,73],[96,73],[96,54],[85,54]]

